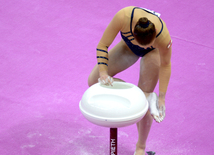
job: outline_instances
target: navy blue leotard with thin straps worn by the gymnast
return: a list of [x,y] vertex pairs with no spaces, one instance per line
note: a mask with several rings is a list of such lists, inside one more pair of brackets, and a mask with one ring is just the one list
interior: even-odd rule
[[[131,49],[131,51],[133,53],[135,53],[137,56],[139,57],[143,57],[144,55],[146,55],[147,53],[149,53],[150,51],[152,51],[153,49],[155,49],[154,47],[149,47],[147,49],[145,48],[142,48],[138,45],[134,45],[132,44],[132,40],[134,40],[134,36],[133,36],[133,33],[132,33],[132,20],[133,20],[133,17],[134,17],[134,10],[135,9],[142,9],[148,13],[151,13],[155,16],[157,16],[159,18],[160,14],[159,13],[156,13],[154,11],[151,11],[151,10],[148,10],[148,9],[144,9],[144,8],[139,8],[139,7],[135,7],[133,10],[132,10],[132,14],[131,14],[131,22],[130,22],[130,31],[129,32],[120,32],[121,34],[121,37],[123,38],[123,40],[125,41],[125,43],[127,44],[127,46]],[[162,28],[161,28],[161,31],[157,34],[156,38],[161,34],[162,30],[163,30],[163,22],[162,20],[159,18],[161,24],[162,24]],[[125,35],[128,35],[128,36],[124,36]],[[130,39],[129,39],[130,38]]]

